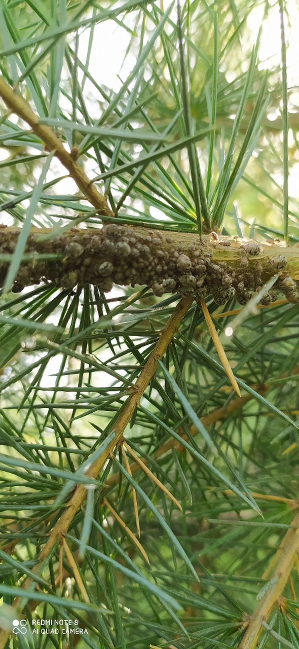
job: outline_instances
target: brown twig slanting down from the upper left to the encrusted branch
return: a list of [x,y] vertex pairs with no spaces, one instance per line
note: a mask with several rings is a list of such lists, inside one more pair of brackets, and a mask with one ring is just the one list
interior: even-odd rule
[[67,153],[66,149],[50,127],[39,124],[38,115],[31,110],[29,104],[12,90],[6,84],[3,77],[0,78],[0,97],[2,97],[6,106],[16,115],[21,117],[29,124],[32,131],[43,141],[48,151],[55,151],[55,155],[60,162],[66,167],[69,175],[75,180],[78,188],[82,191],[84,197],[99,210],[99,214],[113,216],[113,212],[108,208],[106,197],[103,197],[95,185],[90,184],[90,179],[86,176],[85,171],[78,165],[78,162]]

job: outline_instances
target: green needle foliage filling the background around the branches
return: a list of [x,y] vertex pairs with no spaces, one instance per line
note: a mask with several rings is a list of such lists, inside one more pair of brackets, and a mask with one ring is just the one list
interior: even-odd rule
[[[158,1],[1,0],[1,73],[66,147],[79,147],[80,164],[97,178],[120,222],[191,232],[206,214],[206,227],[210,223],[225,234],[263,240],[289,232],[295,243],[298,201],[289,197],[288,211],[287,186],[281,189],[277,175],[283,178],[283,156],[290,167],[298,160],[297,89],[287,93],[293,112],[283,114],[280,67],[266,75],[257,66],[258,42],[251,52],[248,17],[257,6],[264,20],[275,8],[267,0],[194,0],[182,3],[179,24],[176,7]],[[117,90],[101,84],[104,60],[98,77],[90,72],[97,26],[106,21],[130,35],[132,71],[123,79],[120,69]],[[86,35],[82,57],[80,39]],[[270,121],[276,109],[281,116]],[[283,138],[288,120],[289,147]],[[101,136],[95,127],[102,127]],[[1,152],[6,149],[0,164],[5,222],[30,221],[60,233],[78,222],[101,227],[109,220],[95,214],[76,189],[60,193],[65,171],[54,158],[33,193],[48,154],[3,103],[0,143]],[[13,257],[15,269],[18,264]],[[64,485],[73,486],[67,483],[71,473],[99,452],[113,430],[178,300],[156,299],[142,287],[105,295],[96,287],[49,284],[1,295],[0,592],[6,604],[22,588],[61,514],[64,505],[53,508],[54,500]],[[207,304],[214,315],[239,306],[231,300],[220,309],[209,298]],[[219,332],[231,320],[215,320]],[[250,400],[193,437],[197,417],[230,404],[235,395],[202,311],[191,306],[125,431],[180,501],[182,513],[142,471],[130,478],[115,450],[67,536],[90,603],[66,556],[60,588],[56,545],[40,575],[42,600],[34,613],[29,607],[24,613],[29,621],[31,615],[77,619],[88,635],[66,644],[63,636],[29,631],[7,647],[239,644],[243,620],[269,583],[263,572],[293,519],[287,502],[250,492],[298,497],[298,324],[298,305],[278,305],[248,315],[225,339],[242,394]],[[182,431],[187,442],[156,455]],[[121,479],[103,485],[117,471]],[[77,480],[84,480],[84,472]],[[150,565],[102,500],[136,533],[132,485]],[[295,591],[296,581],[294,570]],[[284,594],[285,606],[268,622],[280,643],[286,639],[298,647],[298,609],[289,586]],[[264,631],[259,646],[277,642]]]

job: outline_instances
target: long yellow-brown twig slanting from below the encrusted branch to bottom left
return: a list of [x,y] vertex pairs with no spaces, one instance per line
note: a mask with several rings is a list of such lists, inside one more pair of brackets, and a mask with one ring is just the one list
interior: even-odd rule
[[[126,400],[123,410],[121,410],[119,417],[115,421],[114,424],[115,437],[113,441],[110,443],[110,445],[108,445],[108,447],[101,454],[101,456],[99,456],[99,458],[97,458],[97,460],[93,462],[90,469],[86,471],[86,475],[90,476],[91,478],[97,478],[102,467],[104,467],[106,460],[110,457],[110,454],[113,452],[114,447],[117,444],[119,444],[119,442],[121,441],[126,425],[130,421],[130,418],[132,417],[132,413],[134,412],[135,408],[138,406],[139,400],[141,399],[143,392],[145,391],[146,387],[149,385],[150,379],[152,378],[152,376],[154,376],[154,373],[156,372],[158,360],[162,358],[169,343],[171,343],[171,340],[173,339],[174,333],[176,332],[178,325],[182,321],[185,313],[191,306],[192,302],[193,299],[191,297],[183,297],[178,303],[178,306],[174,310],[173,314],[169,318],[169,321],[166,324],[165,328],[163,329],[163,332],[161,333],[160,339],[158,340],[156,347],[154,347],[154,350],[150,354],[147,363],[145,363],[145,366],[143,367],[143,370],[138,380],[136,381],[134,390],[132,391],[130,397],[128,397],[128,399]],[[40,554],[39,562],[33,568],[34,572],[38,572],[40,568],[40,564],[48,556],[49,552],[51,552],[56,541],[58,539],[62,539],[64,535],[66,535],[69,525],[71,524],[73,517],[77,512],[77,509],[80,507],[80,504],[83,502],[83,500],[85,500],[85,497],[86,497],[86,488],[82,484],[78,485],[75,489],[75,493],[73,497],[71,498],[71,500],[69,500],[66,509],[64,509],[62,516],[56,522],[56,525],[54,526],[47,543],[43,547],[43,550]],[[25,583],[23,583],[23,588],[28,589],[31,583],[32,583],[32,578],[28,577],[27,580],[25,580]],[[20,602],[21,602],[21,598],[16,598],[12,606],[18,609]],[[10,636],[10,631],[5,631],[5,630],[2,631],[1,639],[0,639],[0,649],[5,648],[9,636]]]

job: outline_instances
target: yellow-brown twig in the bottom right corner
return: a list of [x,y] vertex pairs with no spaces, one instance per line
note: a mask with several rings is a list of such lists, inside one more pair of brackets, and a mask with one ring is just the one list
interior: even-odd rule
[[243,640],[239,644],[239,649],[254,649],[263,630],[263,622],[269,618],[276,601],[283,593],[299,550],[299,513],[294,517],[292,526],[291,529],[287,530],[280,545],[281,557],[273,574],[272,586],[261,598],[256,610],[251,615]]

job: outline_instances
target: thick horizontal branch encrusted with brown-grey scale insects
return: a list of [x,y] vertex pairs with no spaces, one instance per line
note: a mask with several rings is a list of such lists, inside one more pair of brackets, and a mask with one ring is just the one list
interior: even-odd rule
[[[46,236],[45,236],[46,233]],[[1,228],[0,286],[16,247],[18,228]],[[8,256],[3,256],[7,255]],[[45,255],[47,256],[45,258]],[[32,229],[13,291],[50,280],[56,286],[98,284],[110,291],[115,284],[147,284],[155,295],[178,291],[193,299],[211,294],[217,304],[234,295],[245,304],[253,291],[278,274],[262,304],[270,304],[282,291],[289,302],[298,302],[298,248],[231,237],[166,232],[109,224],[86,230],[73,228],[63,236],[51,230]]]

